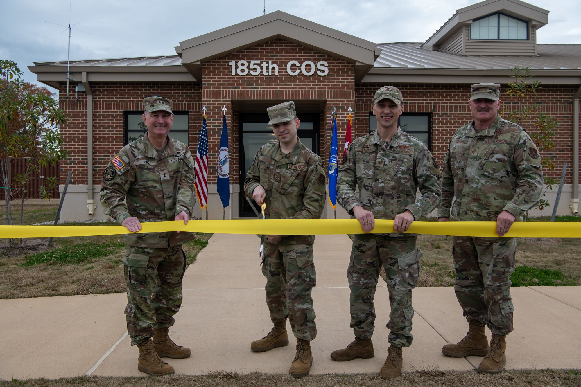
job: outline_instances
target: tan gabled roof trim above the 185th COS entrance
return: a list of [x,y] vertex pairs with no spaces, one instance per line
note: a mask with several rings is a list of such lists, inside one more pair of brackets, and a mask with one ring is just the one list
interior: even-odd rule
[[284,39],[355,64],[355,81],[373,67],[375,43],[275,11],[180,42],[182,64],[201,79],[202,63],[274,39]]

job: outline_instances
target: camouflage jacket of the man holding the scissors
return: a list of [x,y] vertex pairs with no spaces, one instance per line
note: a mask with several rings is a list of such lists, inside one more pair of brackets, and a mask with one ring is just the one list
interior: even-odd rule
[[[262,185],[267,219],[318,219],[325,206],[325,172],[321,158],[299,139],[284,155],[278,141],[263,145],[244,181],[246,196]],[[279,245],[310,245],[314,235],[283,236]]]

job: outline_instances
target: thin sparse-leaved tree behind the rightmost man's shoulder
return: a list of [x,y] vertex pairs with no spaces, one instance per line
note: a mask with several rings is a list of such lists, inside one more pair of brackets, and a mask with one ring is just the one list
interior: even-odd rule
[[[540,110],[540,106],[536,103],[530,105],[526,103],[526,100],[537,95],[537,89],[541,88],[541,82],[530,81],[533,77],[532,69],[530,67],[512,67],[511,77],[514,81],[508,84],[506,94],[510,96],[515,96],[517,98],[517,109],[504,114],[504,119],[512,121],[519,126],[526,129],[526,126],[532,125],[530,131],[527,131],[530,138],[535,142],[537,147],[541,149],[544,153],[544,157],[541,157],[541,164],[545,171],[554,170],[555,164],[553,158],[549,155],[549,152],[555,147],[555,130],[560,126],[557,119],[553,116],[548,116],[547,113],[543,113]],[[553,177],[547,176],[546,173],[543,174],[543,180],[545,189],[543,192],[543,197],[549,189],[553,190],[554,185],[559,182]],[[545,207],[549,207],[550,203],[547,199],[541,197],[539,203],[535,206],[539,210],[543,210]]]

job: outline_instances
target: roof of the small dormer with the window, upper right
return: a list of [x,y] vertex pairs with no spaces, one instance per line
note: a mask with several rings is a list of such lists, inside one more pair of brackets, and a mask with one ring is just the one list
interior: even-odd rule
[[456,10],[456,13],[421,46],[431,49],[447,40],[462,25],[471,24],[474,19],[496,12],[525,20],[530,25],[536,26],[537,29],[548,23],[548,10],[546,9],[521,0],[485,0]]

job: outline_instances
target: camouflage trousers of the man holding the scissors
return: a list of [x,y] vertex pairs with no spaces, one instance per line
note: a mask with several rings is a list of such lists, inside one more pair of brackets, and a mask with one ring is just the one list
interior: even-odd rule
[[277,245],[264,240],[262,273],[267,282],[266,304],[272,322],[288,316],[296,338],[317,336],[311,289],[317,283],[313,245]]

